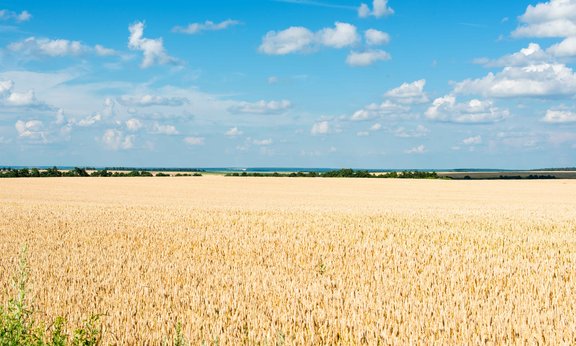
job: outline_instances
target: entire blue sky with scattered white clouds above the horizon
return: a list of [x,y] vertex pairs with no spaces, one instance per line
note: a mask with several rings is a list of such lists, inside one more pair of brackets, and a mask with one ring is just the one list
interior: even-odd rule
[[576,0],[1,1],[0,166],[576,165]]

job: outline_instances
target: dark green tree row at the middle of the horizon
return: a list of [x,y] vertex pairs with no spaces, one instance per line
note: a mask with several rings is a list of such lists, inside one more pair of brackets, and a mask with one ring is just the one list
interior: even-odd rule
[[291,172],[291,173],[228,173],[229,177],[307,177],[307,178],[400,178],[400,179],[438,179],[436,172],[402,171],[387,173],[370,173],[366,170],[355,171],[350,168],[328,172]]

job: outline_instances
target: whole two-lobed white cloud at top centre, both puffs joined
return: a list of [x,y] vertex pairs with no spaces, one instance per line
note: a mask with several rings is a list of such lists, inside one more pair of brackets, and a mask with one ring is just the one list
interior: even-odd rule
[[259,50],[269,55],[286,55],[311,51],[317,47],[349,47],[358,40],[356,27],[348,23],[336,22],[333,28],[324,28],[316,33],[305,27],[293,26],[286,30],[266,33]]

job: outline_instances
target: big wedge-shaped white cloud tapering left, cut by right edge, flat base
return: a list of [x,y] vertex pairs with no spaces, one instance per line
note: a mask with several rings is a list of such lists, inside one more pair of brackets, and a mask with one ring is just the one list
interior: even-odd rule
[[564,64],[511,66],[484,78],[457,83],[454,91],[498,98],[572,97],[576,93],[576,74]]

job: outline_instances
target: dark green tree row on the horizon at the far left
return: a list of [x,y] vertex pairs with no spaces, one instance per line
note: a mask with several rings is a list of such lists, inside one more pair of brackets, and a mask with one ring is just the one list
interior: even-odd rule
[[[57,167],[48,168],[45,170],[39,170],[38,168],[2,168],[0,169],[0,178],[35,178],[35,177],[153,177],[149,171],[136,171],[132,170],[129,172],[111,172],[107,169],[94,170],[88,173],[85,168],[74,167],[71,170],[60,171]],[[170,174],[158,172],[157,177],[169,177]],[[178,173],[176,176],[202,176],[200,173],[194,174],[181,174]]]

